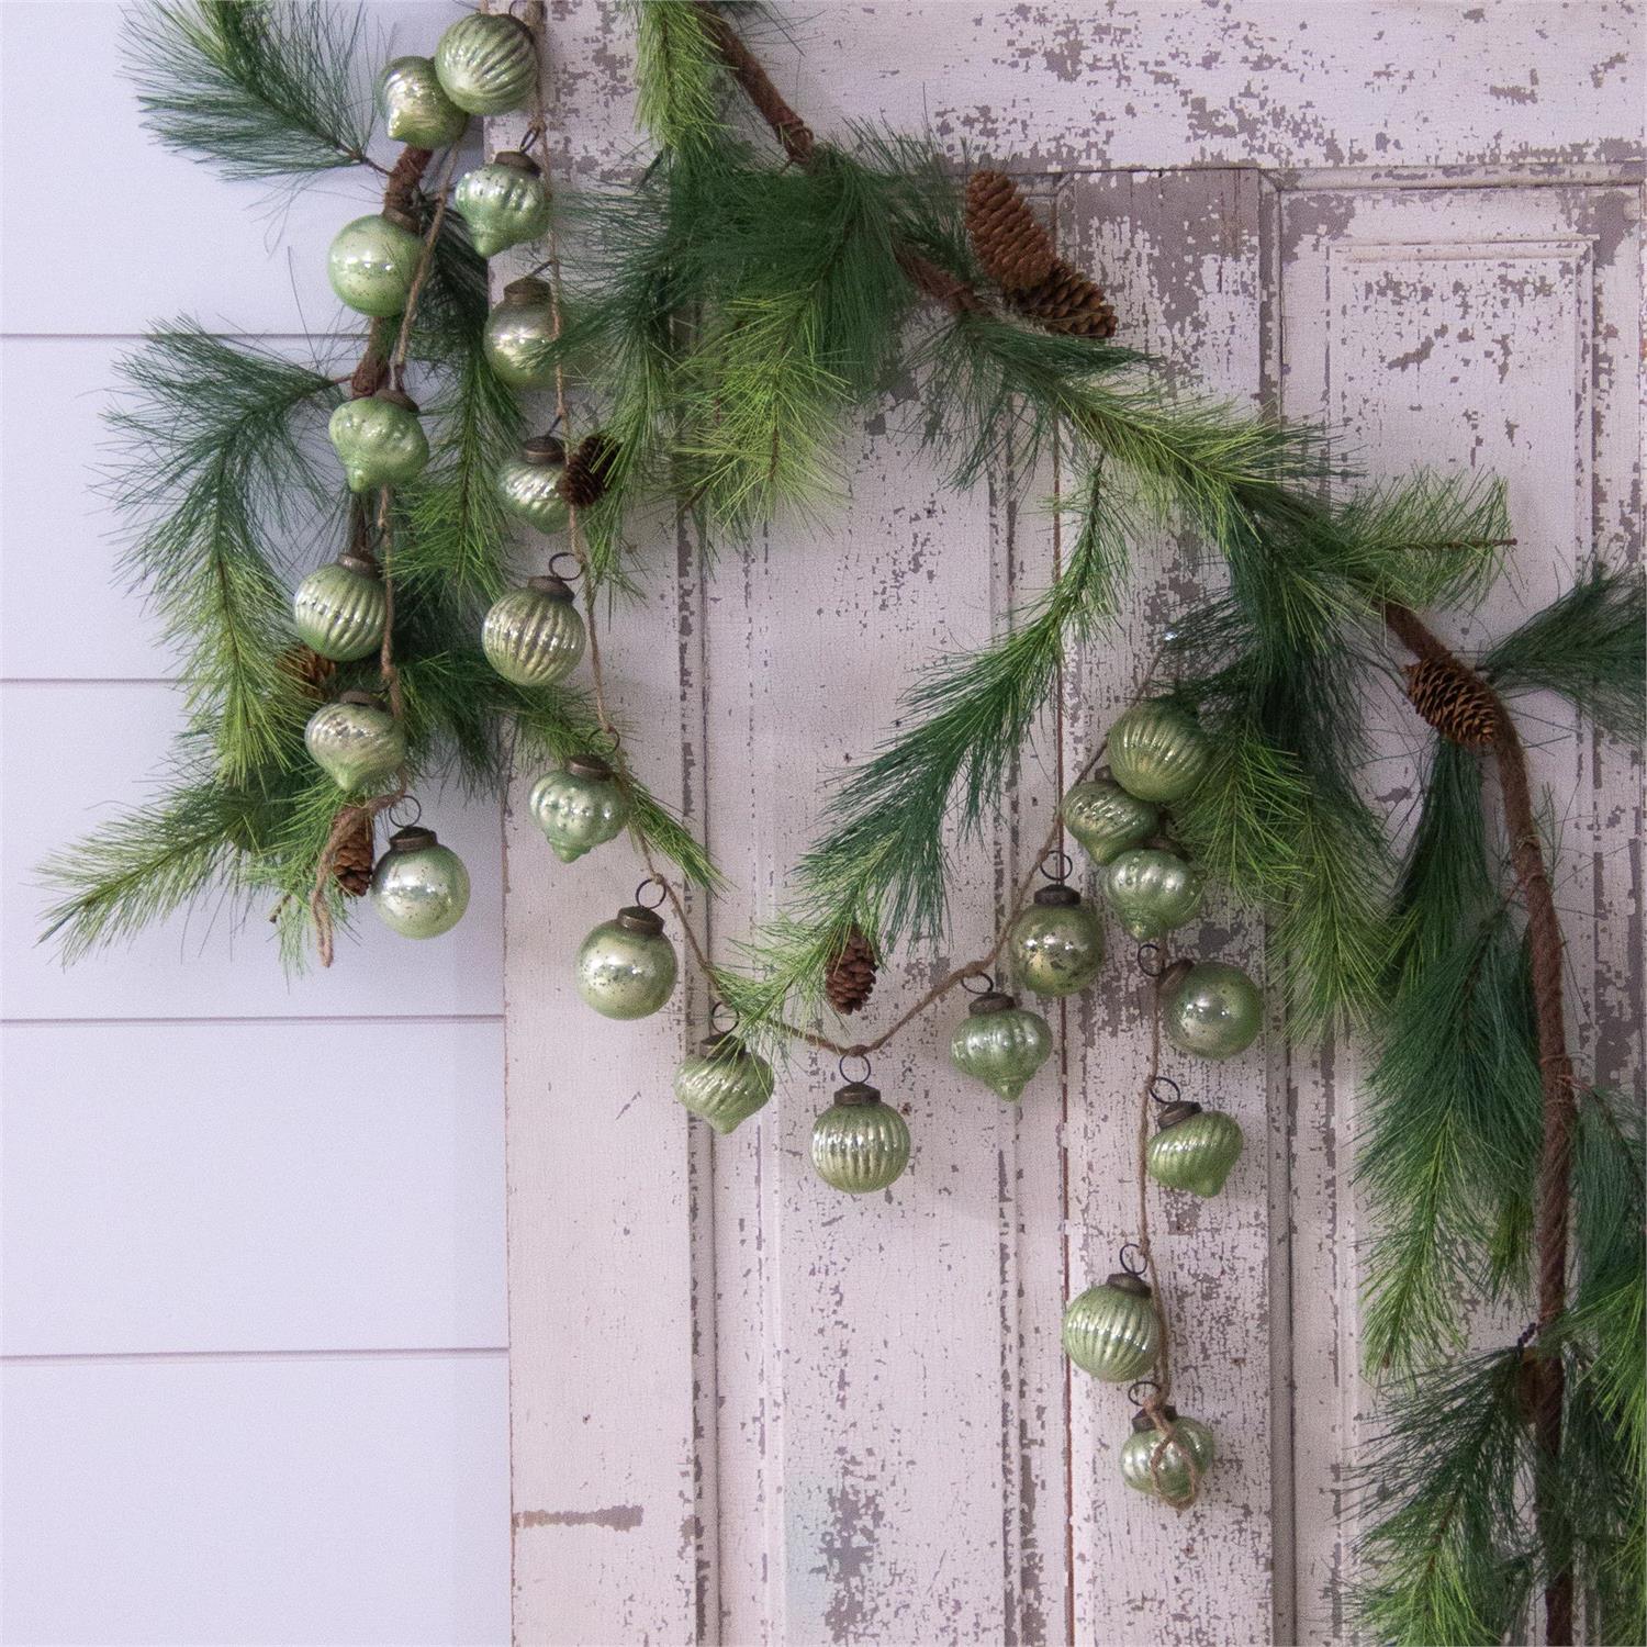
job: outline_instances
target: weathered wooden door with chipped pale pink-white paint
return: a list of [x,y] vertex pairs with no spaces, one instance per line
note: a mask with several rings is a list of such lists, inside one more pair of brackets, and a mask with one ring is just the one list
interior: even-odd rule
[[[1029,181],[1112,288],[1122,338],[1186,384],[1341,425],[1370,473],[1507,474],[1520,550],[1489,626],[1593,547],[1639,550],[1629,7],[825,0],[796,8],[794,33],[802,53],[776,33],[764,49],[820,135],[924,125]],[[552,44],[562,175],[623,175],[621,13],[567,0]],[[721,547],[713,570],[688,539],[647,544],[649,595],[611,628],[639,763],[738,886],[698,911],[715,947],[772,911],[824,781],[871,748],[914,669],[988,636],[1059,555],[1033,506],[1056,476],[959,496],[896,422],[848,443],[850,501],[824,527]],[[993,850],[957,860],[949,952],[901,957],[876,1011],[987,945],[1061,772],[1215,576],[1179,545],[1138,545],[1120,639],[1064,682]],[[1416,740],[1393,695],[1383,718],[1367,786],[1400,809]],[[1550,720],[1538,776],[1581,871],[1563,894],[1578,1029],[1609,1079],[1639,1003],[1639,782]],[[1179,1519],[1122,1487],[1125,1402],[1072,1379],[1057,1346],[1066,1295],[1131,1234],[1128,967],[1054,1023],[1061,1064],[1021,1113],[957,1080],[945,1023],[894,1043],[876,1075],[907,1110],[914,1166],[893,1194],[847,1202],[805,1159],[833,1069],[797,1062],[756,1123],[712,1138],[669,1095],[703,995],[636,1026],[572,995],[578,937],[637,875],[611,858],[558,870],[517,807],[517,1639],[1341,1639],[1344,1472],[1369,1408],[1352,1052],[1271,1036],[1204,1077],[1252,1146],[1219,1199],[1159,1214],[1178,1388],[1225,1454]],[[1199,942],[1262,970],[1240,909],[1215,909]]]

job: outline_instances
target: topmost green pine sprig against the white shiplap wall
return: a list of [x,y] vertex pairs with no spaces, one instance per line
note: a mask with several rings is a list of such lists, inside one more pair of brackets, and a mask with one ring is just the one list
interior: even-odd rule
[[374,165],[364,33],[328,0],[193,0],[128,12],[122,44],[161,143],[229,178],[298,180]]

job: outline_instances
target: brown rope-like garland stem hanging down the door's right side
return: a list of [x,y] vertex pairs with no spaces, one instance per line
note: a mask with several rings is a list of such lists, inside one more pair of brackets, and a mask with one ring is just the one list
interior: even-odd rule
[[[1390,632],[1420,660],[1435,660],[1449,669],[1474,674],[1410,608],[1388,603],[1383,608],[1383,619]],[[1492,695],[1492,702],[1499,715],[1492,758],[1499,774],[1499,792],[1504,797],[1510,861],[1527,903],[1528,955],[1538,1029],[1538,1077],[1543,1089],[1543,1145],[1538,1161],[1533,1224],[1538,1255],[1538,1326],[1543,1331],[1553,1326],[1566,1309],[1573,1128],[1578,1118],[1578,1097],[1573,1085],[1573,1061],[1566,1047],[1561,922],[1550,888],[1538,820],[1533,815],[1527,749],[1497,693]],[[1535,1430],[1540,1451],[1550,1464],[1550,1474],[1561,1458],[1563,1382],[1560,1357],[1555,1354],[1540,1357]],[[1551,1502],[1543,1476],[1545,1472],[1540,1472],[1537,1492],[1543,1543],[1548,1550],[1565,1551],[1568,1547],[1561,1525],[1565,1517],[1561,1509]],[[1545,1586],[1545,1639],[1551,1647],[1563,1647],[1573,1640],[1573,1573],[1570,1566],[1556,1571]]]

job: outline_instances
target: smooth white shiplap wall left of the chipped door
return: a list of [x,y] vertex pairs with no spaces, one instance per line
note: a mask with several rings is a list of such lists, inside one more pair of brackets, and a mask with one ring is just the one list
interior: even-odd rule
[[[372,13],[407,51],[451,8]],[[463,927],[362,929],[328,977],[209,911],[68,972],[35,947],[35,865],[142,797],[181,712],[94,491],[114,361],[176,315],[301,349],[339,321],[331,232],[372,209],[161,152],[119,23],[0,7],[0,1640],[501,1642],[496,809],[430,809]]]

